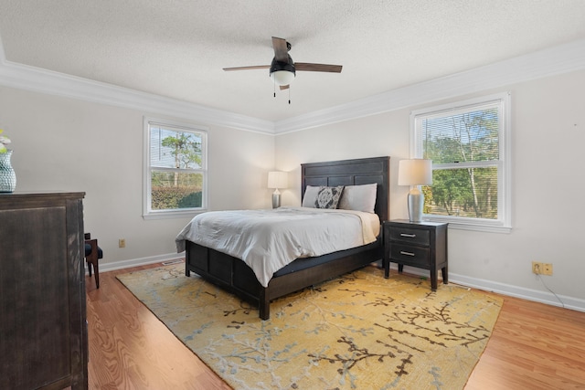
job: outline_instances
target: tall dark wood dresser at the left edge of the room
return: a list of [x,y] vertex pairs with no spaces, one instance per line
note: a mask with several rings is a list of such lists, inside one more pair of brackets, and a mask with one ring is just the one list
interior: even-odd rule
[[84,193],[0,194],[0,388],[87,389]]

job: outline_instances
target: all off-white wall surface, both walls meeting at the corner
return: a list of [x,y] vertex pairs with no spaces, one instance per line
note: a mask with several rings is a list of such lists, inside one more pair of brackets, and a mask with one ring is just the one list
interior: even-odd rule
[[[504,90],[512,93],[514,228],[510,234],[450,229],[450,278],[555,304],[544,280],[568,307],[585,311],[585,70],[276,136],[189,121],[209,128],[212,209],[270,207],[266,173],[274,168],[293,173],[282,203],[300,205],[301,163],[389,155],[396,177],[399,160],[409,157],[410,111]],[[86,231],[100,239],[102,269],[173,255],[176,233],[189,218],[142,217],[143,117],[160,112],[2,86],[0,110],[0,127],[15,150],[16,190],[86,192]],[[391,218],[407,217],[407,192],[391,180]],[[118,248],[121,237],[127,248]],[[554,275],[537,279],[532,260],[553,263]]]

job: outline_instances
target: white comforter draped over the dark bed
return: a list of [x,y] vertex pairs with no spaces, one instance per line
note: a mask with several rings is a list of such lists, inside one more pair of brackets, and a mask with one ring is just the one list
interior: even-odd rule
[[321,256],[376,240],[376,214],[283,206],[270,210],[211,211],[195,216],[177,235],[182,252],[189,240],[241,258],[264,287],[295,258]]

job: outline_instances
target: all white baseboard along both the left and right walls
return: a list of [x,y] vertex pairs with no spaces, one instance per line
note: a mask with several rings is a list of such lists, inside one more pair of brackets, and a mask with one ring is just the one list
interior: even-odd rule
[[[100,271],[107,272],[116,269],[129,269],[133,267],[145,266],[154,263],[163,263],[166,261],[174,261],[183,258],[185,258],[184,253],[167,253],[165,255],[151,256],[148,258],[133,258],[111,263],[102,263],[100,264]],[[398,271],[398,266],[393,264],[390,266],[390,269]],[[405,266],[404,271],[425,278],[429,277],[429,271],[425,271],[424,269],[415,269]],[[449,273],[449,281],[454,284],[471,287],[477,290],[492,291],[509,297],[520,298],[522,300],[533,300],[551,306],[558,306],[565,309],[585,312],[585,300],[581,300],[575,297],[568,297],[565,295],[555,295],[550,291],[525,289],[523,287],[499,283],[492,280],[470,278],[452,272]]]

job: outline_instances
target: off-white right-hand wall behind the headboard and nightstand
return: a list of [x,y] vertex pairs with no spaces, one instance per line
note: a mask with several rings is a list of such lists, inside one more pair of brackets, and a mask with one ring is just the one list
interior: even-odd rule
[[509,85],[405,110],[276,137],[277,167],[294,173],[283,204],[300,204],[300,163],[391,156],[390,217],[407,218],[407,187],[398,186],[409,157],[410,111],[509,90],[512,93],[513,230],[510,234],[449,230],[451,279],[554,303],[533,260],[553,263],[542,277],[568,306],[585,309],[585,71]]

